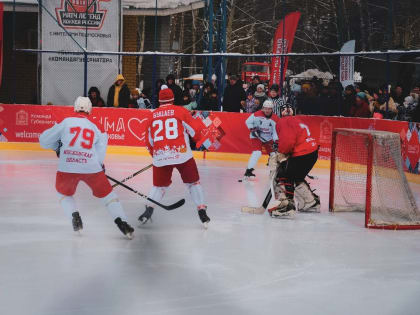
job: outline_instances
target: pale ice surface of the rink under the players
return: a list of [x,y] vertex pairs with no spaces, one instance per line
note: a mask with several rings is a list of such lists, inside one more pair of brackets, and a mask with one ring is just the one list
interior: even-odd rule
[[[136,227],[129,241],[84,183],[76,193],[84,230],[73,232],[55,192],[57,161],[53,152],[0,150],[0,314],[420,314],[420,231],[368,230],[361,213],[330,214],[326,169],[312,171],[321,213],[272,219],[240,211],[261,204],[264,164],[255,182],[239,183],[246,162],[197,160],[208,230],[176,171],[163,202],[186,204],[156,208],[141,227],[143,199],[116,188]],[[105,165],[122,179],[150,162],[108,155]],[[147,194],[151,176],[127,184]]]

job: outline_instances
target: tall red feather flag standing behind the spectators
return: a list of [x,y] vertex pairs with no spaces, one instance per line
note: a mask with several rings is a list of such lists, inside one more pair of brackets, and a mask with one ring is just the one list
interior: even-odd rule
[[[295,38],[295,32],[300,19],[300,12],[293,12],[280,21],[277,26],[276,34],[274,35],[273,41],[273,54],[285,54],[292,50],[293,40]],[[284,32],[283,32],[284,27]],[[284,38],[283,38],[284,36]],[[281,72],[281,59],[282,57],[274,57],[271,60],[271,76],[270,86],[273,84],[280,84],[281,76],[286,74],[287,64],[289,58],[284,58],[283,73]]]

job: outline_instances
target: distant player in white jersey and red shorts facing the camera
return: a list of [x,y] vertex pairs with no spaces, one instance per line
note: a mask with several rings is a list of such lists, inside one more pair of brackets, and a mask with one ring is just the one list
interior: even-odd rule
[[272,101],[266,100],[262,109],[249,116],[245,122],[250,130],[252,153],[248,160],[244,179],[255,178],[253,171],[262,155],[262,148],[264,147],[267,154],[270,154],[273,142],[278,140],[276,124],[279,117],[273,113],[273,106]]

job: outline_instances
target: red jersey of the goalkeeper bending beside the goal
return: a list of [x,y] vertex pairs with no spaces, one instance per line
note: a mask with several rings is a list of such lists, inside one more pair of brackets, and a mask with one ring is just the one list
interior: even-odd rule
[[290,156],[309,154],[318,149],[311,132],[297,116],[279,118],[276,124],[280,153]]

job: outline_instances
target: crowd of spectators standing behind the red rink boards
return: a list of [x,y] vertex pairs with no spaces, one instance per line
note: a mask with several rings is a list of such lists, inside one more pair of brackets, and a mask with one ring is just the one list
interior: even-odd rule
[[273,111],[284,115],[324,115],[364,118],[386,118],[420,122],[420,83],[414,87],[397,84],[395,87],[368,87],[364,84],[342,87],[338,81],[325,82],[316,77],[285,84],[267,86],[258,76],[244,83],[236,75],[230,75],[223,92],[218,92],[213,82],[184,80],[183,86],[169,74],[166,80],[158,79],[155,88],[129,89],[124,77],[119,74],[109,88],[106,102],[97,87],[89,89],[93,106],[122,108],[157,108],[158,93],[166,85],[174,93],[174,104],[188,110],[253,113],[262,108],[265,100],[274,104]]

